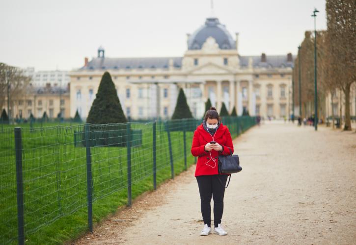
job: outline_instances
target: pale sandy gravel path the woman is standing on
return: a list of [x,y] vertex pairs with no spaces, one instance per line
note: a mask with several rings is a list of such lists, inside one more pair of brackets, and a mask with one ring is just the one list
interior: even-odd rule
[[243,171],[225,192],[227,236],[199,236],[193,165],[74,244],[356,244],[355,132],[266,123],[234,146]]

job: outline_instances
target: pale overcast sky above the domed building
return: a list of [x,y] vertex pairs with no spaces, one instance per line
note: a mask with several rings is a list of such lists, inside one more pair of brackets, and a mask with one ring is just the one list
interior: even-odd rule
[[[187,33],[204,24],[210,0],[0,0],[0,62],[72,70],[84,57],[183,56]],[[326,29],[325,0],[214,0],[241,55],[297,53],[305,30]]]

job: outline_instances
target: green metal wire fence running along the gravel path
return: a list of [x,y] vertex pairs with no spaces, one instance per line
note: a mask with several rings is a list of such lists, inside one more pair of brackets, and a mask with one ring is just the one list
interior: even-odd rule
[[[231,136],[255,125],[253,117],[225,117]],[[201,120],[16,127],[0,130],[0,244],[25,237],[86,208],[92,231],[93,204],[194,163],[192,136]],[[117,205],[117,204],[116,204]],[[73,218],[74,219],[74,218]],[[70,225],[70,224],[68,224]]]

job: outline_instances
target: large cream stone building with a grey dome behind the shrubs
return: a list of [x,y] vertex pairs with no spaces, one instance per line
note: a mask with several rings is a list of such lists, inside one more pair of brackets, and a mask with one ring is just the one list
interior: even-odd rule
[[211,99],[220,111],[264,118],[288,118],[291,112],[291,53],[242,56],[235,39],[216,17],[187,35],[182,57],[111,58],[100,47],[98,56],[70,75],[70,116],[76,110],[85,119],[101,76],[110,72],[126,116],[133,119],[170,118],[179,88],[183,88],[192,114],[200,118]]

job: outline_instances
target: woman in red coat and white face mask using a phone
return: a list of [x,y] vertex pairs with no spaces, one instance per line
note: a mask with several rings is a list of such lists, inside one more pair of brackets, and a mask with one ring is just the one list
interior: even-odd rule
[[210,201],[212,196],[214,199],[214,233],[227,235],[220,223],[224,207],[225,184],[229,174],[219,174],[218,155],[229,155],[230,149],[234,152],[230,131],[220,122],[219,113],[215,107],[210,107],[210,110],[205,113],[203,123],[194,131],[191,149],[192,155],[198,157],[194,176],[198,182],[200,208],[204,221],[201,236],[211,233]]

